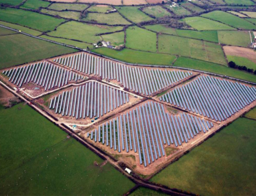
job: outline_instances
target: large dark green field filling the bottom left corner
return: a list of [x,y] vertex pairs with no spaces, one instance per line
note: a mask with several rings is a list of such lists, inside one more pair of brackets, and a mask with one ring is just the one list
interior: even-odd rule
[[122,195],[134,186],[28,105],[2,109],[0,119],[1,194]]

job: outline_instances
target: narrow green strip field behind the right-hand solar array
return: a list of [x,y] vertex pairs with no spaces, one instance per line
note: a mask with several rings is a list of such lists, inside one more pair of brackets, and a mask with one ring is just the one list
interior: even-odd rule
[[175,61],[174,66],[181,67],[181,68],[201,70],[205,72],[211,72],[215,74],[221,74],[221,75],[226,75],[234,78],[239,78],[242,80],[256,82],[256,77],[253,74],[235,70],[226,66],[220,66],[219,64],[186,58],[186,57],[179,57]]

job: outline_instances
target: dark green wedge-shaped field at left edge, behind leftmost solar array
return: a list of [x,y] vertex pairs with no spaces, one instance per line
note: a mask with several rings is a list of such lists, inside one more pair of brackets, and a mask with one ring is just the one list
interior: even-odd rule
[[0,36],[0,69],[75,51],[22,34]]

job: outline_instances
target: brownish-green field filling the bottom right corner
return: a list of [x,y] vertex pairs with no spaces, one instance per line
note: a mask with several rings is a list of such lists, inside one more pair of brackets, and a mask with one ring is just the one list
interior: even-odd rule
[[256,194],[255,126],[239,118],[151,181],[199,195]]

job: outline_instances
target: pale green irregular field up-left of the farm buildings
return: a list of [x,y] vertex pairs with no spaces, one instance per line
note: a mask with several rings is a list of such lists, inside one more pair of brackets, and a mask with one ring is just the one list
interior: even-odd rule
[[[77,31],[77,29],[79,29],[79,31]],[[63,37],[89,43],[97,43],[99,40],[101,40],[100,36],[96,36],[97,33],[115,32],[122,29],[123,27],[98,26],[70,21],[60,25],[56,31],[50,32],[48,34],[55,37]],[[74,33],[74,31],[76,33]]]

